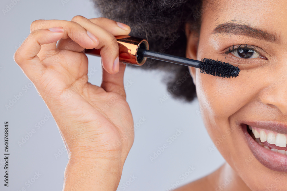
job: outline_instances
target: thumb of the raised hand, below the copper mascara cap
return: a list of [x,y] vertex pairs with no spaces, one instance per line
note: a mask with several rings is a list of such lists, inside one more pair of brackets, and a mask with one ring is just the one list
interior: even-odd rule
[[124,64],[123,62],[119,62],[119,72],[117,72],[116,74],[110,74],[104,68],[102,68],[103,77],[102,77],[102,84],[101,84],[101,87],[106,92],[118,93],[121,96],[123,96],[124,99],[126,99],[124,82],[123,82],[125,67],[126,67],[126,64]]

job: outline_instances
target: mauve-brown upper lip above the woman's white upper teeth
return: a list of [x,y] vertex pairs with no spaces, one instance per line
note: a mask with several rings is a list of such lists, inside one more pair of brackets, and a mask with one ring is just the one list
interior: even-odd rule
[[287,124],[279,121],[241,121],[249,126],[267,129],[281,134],[287,134]]

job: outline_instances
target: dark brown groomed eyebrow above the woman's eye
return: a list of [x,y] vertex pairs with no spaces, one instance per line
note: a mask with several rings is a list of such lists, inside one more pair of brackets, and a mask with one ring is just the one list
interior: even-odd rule
[[253,28],[249,25],[241,25],[232,22],[217,25],[217,27],[213,30],[213,34],[217,33],[244,35],[251,38],[266,40],[269,42],[279,42],[275,34],[270,34],[266,31]]

